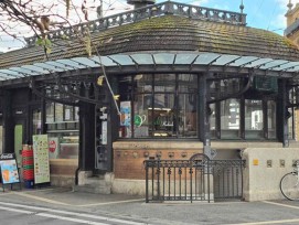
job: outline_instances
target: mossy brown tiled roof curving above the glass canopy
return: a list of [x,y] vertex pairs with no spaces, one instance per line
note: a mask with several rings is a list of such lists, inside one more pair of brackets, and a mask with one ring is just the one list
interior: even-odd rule
[[[242,25],[163,15],[92,34],[102,55],[142,51],[192,51],[299,61],[298,47],[276,33]],[[110,42],[106,43],[107,40]],[[95,47],[93,47],[95,54]],[[86,56],[79,40],[57,41],[45,58],[41,46],[1,54],[0,68]]]

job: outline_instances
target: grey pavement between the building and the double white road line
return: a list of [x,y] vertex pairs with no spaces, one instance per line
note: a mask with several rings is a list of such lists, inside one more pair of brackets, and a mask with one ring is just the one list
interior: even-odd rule
[[299,202],[145,203],[140,196],[90,194],[64,188],[0,192],[0,202],[73,212],[126,216],[147,224],[299,224]]

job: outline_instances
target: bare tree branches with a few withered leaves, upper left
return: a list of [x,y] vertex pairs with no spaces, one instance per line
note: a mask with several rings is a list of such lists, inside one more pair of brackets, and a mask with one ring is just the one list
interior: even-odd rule
[[[92,4],[88,4],[90,2]],[[76,4],[75,4],[76,3]],[[52,42],[47,39],[47,32],[75,23],[88,21],[90,12],[98,12],[103,9],[102,0],[0,0],[0,32],[13,39],[22,40],[22,34],[36,35],[36,44],[43,46],[45,56],[51,53]],[[109,4],[113,8],[113,4]],[[128,8],[127,8],[128,9]],[[99,56],[96,44],[92,42],[90,32],[85,30],[78,33],[87,55],[92,55],[92,49]],[[115,105],[118,96],[114,95],[106,72],[103,65],[103,76],[99,76],[98,84],[106,79]],[[119,110],[118,110],[119,111]]]

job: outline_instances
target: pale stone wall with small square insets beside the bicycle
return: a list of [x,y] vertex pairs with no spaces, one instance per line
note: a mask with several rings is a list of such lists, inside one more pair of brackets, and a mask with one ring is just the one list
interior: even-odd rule
[[[247,148],[243,152],[245,201],[284,199],[279,182],[292,171],[293,160],[299,160],[299,148]],[[271,167],[267,161],[271,160]],[[285,160],[285,167],[280,164]]]

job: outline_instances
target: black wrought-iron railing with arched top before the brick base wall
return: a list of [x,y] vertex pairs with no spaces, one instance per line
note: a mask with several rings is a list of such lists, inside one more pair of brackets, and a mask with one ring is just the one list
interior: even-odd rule
[[146,202],[242,199],[243,160],[146,160]]

